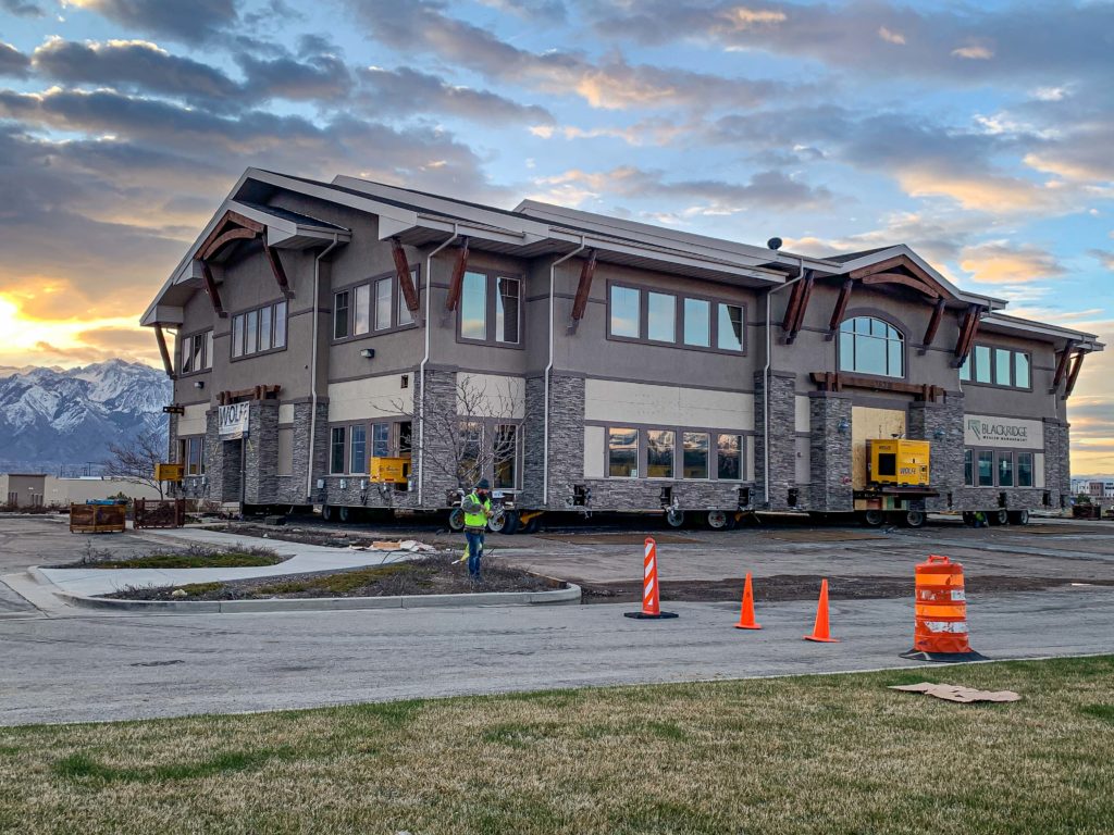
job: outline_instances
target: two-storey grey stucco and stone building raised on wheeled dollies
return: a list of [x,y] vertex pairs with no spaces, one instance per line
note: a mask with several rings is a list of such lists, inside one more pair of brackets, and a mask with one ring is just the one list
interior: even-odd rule
[[1005,523],[1066,502],[1066,401],[1103,348],[1006,304],[903,245],[798,256],[248,169],[143,324],[190,498],[346,519],[482,475],[510,531],[583,508]]

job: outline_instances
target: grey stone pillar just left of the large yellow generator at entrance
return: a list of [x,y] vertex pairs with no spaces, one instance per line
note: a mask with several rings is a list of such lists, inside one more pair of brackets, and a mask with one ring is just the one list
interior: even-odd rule
[[[838,512],[854,509],[851,487],[851,399],[815,392],[809,399],[811,435],[809,508]],[[841,432],[840,422],[844,423]]]

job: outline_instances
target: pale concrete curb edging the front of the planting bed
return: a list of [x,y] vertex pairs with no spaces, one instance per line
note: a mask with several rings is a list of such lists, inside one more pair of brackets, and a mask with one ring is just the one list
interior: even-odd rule
[[[45,579],[45,578],[43,578]],[[50,582],[47,580],[47,582]],[[52,584],[52,583],[51,583]],[[234,612],[339,611],[344,609],[423,609],[471,606],[579,606],[580,587],[555,591],[480,591],[470,595],[403,595],[401,597],[324,597],[264,600],[118,600],[56,591],[72,606],[116,611],[222,615]]]

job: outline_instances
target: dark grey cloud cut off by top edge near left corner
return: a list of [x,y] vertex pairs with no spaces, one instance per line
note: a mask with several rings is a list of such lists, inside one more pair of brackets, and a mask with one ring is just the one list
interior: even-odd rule
[[63,0],[128,29],[201,43],[236,22],[234,0]]

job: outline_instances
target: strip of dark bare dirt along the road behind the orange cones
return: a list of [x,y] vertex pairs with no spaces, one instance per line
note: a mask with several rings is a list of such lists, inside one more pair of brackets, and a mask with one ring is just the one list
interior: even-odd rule
[[[754,599],[758,602],[783,600],[814,600],[820,592],[819,574],[774,574],[754,578]],[[828,592],[833,600],[863,600],[868,598],[912,598],[912,577],[847,576],[828,578]],[[642,600],[642,580],[627,582],[585,582],[571,580],[582,591],[585,603],[626,603]],[[1043,577],[967,577],[970,595],[1006,591],[1042,591],[1073,582],[1094,586],[1114,586],[1114,580],[1071,580]],[[743,578],[726,580],[663,580],[662,600],[681,602],[736,601],[743,593]]]

